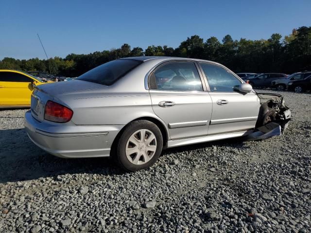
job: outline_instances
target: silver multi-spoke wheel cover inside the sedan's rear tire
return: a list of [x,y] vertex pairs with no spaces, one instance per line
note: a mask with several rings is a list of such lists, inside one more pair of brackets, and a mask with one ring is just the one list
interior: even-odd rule
[[133,133],[126,143],[127,159],[135,165],[147,163],[155,155],[156,138],[150,130],[141,129]]

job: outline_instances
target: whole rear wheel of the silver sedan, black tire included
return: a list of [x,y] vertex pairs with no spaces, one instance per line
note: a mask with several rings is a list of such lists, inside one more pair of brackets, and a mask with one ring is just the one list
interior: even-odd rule
[[138,171],[154,165],[162,147],[160,129],[153,122],[137,120],[121,133],[113,157],[122,169]]

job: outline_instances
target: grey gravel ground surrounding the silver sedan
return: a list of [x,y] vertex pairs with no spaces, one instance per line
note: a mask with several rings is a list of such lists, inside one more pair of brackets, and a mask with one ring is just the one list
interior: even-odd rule
[[49,155],[26,110],[2,110],[0,232],[311,232],[311,94],[282,94],[283,135],[166,150],[135,173]]

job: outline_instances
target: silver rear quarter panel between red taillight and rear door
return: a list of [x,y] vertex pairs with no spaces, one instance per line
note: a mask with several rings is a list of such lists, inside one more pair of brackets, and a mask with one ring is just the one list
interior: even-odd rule
[[73,111],[76,125],[124,125],[143,116],[155,116],[149,93],[94,93],[62,96]]

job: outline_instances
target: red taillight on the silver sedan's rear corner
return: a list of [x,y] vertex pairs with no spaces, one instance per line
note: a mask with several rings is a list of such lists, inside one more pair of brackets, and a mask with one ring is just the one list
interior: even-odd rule
[[44,119],[50,120],[53,122],[68,122],[73,115],[71,109],[55,103],[51,100],[47,101],[44,109]]

